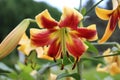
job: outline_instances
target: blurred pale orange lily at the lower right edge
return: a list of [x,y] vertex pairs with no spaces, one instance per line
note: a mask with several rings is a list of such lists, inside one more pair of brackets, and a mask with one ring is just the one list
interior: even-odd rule
[[[111,52],[111,49],[107,49],[103,55],[110,55],[113,54]],[[98,64],[97,71],[98,72],[106,72],[110,73],[111,75],[120,74],[120,56],[109,56],[104,57],[104,60],[106,62],[105,67],[101,67],[102,64]]]

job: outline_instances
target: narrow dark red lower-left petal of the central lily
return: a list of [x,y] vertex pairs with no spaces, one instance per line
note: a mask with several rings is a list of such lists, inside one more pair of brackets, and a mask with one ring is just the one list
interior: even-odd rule
[[60,42],[58,42],[56,39],[50,44],[47,55],[56,59],[60,56],[60,54],[61,54],[61,45]]

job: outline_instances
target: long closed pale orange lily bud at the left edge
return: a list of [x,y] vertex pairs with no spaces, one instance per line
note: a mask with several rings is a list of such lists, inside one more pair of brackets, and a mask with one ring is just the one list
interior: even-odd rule
[[29,19],[23,20],[15,29],[13,29],[0,44],[0,59],[7,56],[18,45],[22,35],[25,33]]

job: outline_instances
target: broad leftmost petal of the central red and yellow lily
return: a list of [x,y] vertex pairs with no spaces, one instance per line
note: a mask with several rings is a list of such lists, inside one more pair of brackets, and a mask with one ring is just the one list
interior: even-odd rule
[[30,29],[31,34],[31,43],[35,46],[45,46],[49,45],[53,40],[54,36],[51,37],[52,33],[56,30],[39,30],[39,29]]

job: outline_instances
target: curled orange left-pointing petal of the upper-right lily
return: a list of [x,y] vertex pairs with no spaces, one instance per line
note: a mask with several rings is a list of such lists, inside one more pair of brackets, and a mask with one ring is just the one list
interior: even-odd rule
[[106,10],[106,9],[101,9],[99,7],[96,7],[95,12],[99,18],[103,20],[108,20],[112,15],[112,13],[114,12],[114,10]]

